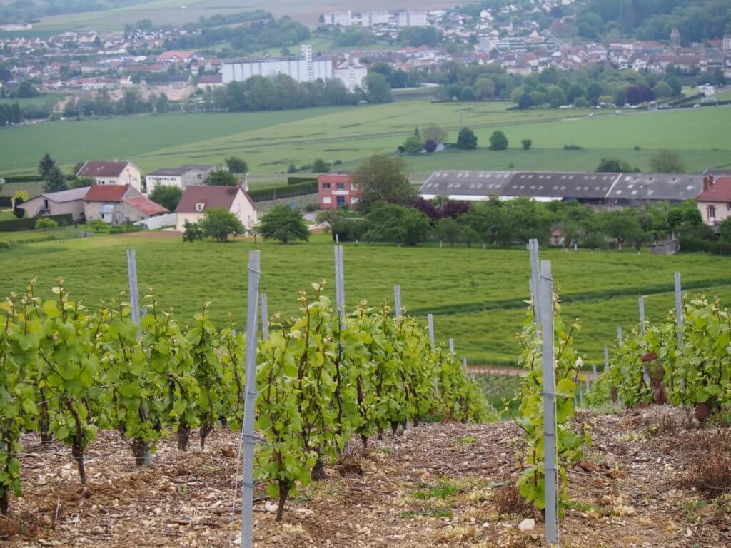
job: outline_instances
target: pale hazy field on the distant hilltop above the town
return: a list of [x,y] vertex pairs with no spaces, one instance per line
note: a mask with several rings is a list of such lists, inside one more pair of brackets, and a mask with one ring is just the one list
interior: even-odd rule
[[[436,9],[453,7],[449,0],[405,0],[398,4],[403,9]],[[274,15],[289,15],[302,23],[315,24],[322,12],[343,11],[352,9],[393,9],[393,3],[387,0],[371,2],[349,2],[346,0],[330,0],[327,2],[303,2],[298,0],[151,0],[141,4],[133,4],[116,9],[98,12],[72,13],[42,18],[34,25],[34,31],[68,31],[94,29],[104,31],[120,31],[126,23],[136,23],[140,19],[150,19],[160,25],[181,25],[197,21],[201,16],[253,11],[264,9]]]

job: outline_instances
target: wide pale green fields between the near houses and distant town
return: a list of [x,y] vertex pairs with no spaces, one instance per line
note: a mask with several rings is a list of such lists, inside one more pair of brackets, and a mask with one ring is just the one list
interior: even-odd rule
[[[681,153],[689,172],[731,165],[724,139],[731,107],[668,112],[507,110],[507,103],[412,100],[274,113],[198,113],[64,121],[0,131],[0,174],[31,172],[48,151],[66,169],[86,159],[131,159],[143,171],[183,163],[219,163],[238,154],[252,172],[284,172],[322,157],[352,169],[374,153],[394,153],[416,127],[436,123],[455,142],[462,126],[477,133],[477,151],[410,156],[414,171],[450,169],[594,170],[602,157],[650,170],[659,148]],[[489,151],[501,129],[507,151]],[[530,151],[520,140],[531,139]],[[564,150],[564,145],[582,150]]]

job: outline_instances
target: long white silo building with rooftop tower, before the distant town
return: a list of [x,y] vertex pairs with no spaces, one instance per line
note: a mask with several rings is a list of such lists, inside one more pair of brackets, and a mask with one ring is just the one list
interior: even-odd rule
[[303,45],[302,53],[302,56],[291,57],[224,60],[223,83],[243,82],[252,76],[276,75],[287,75],[295,82],[332,80],[333,61],[331,59],[313,59],[310,45]]

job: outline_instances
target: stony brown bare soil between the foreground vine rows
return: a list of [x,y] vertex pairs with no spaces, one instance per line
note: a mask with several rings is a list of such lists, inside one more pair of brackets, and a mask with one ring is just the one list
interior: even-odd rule
[[[689,457],[707,450],[704,430],[681,411],[657,407],[579,420],[591,425],[594,444],[569,471],[562,546],[731,546],[731,497],[678,487]],[[502,487],[519,473],[520,439],[508,422],[389,433],[368,454],[328,466],[325,481],[289,501],[284,523],[259,501],[254,545],[541,547],[539,511]],[[186,453],[163,441],[151,468],[135,468],[118,434],[100,433],[88,449],[92,495],[83,498],[69,450],[25,436],[25,493],[0,517],[0,546],[229,546],[238,534],[238,515],[230,528],[237,435],[219,430],[209,440],[205,450],[192,445]],[[537,525],[520,533],[525,518]]]

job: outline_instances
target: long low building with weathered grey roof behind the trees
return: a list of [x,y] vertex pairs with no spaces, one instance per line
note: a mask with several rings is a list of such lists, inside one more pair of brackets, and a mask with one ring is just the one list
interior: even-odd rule
[[582,173],[450,171],[431,174],[419,193],[475,201],[521,196],[539,201],[576,199],[591,205],[623,206],[666,200],[682,202],[702,191],[702,175],[665,173]]

